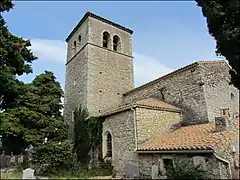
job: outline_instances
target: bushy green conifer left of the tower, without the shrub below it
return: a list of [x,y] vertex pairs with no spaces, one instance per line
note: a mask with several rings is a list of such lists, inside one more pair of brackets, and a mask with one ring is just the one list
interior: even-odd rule
[[[65,139],[68,127],[60,112],[62,96],[60,84],[55,81],[51,72],[46,71],[32,83],[26,84],[16,100],[17,106],[1,113],[3,140],[7,139],[9,142],[9,137],[21,137],[24,141],[21,148],[25,148],[29,144],[37,147],[45,138],[48,141]],[[17,153],[21,149],[11,151]]]

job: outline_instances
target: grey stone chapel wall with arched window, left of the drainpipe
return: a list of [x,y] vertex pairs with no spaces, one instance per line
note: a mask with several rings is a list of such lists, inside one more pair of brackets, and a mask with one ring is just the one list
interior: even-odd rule
[[[103,139],[106,132],[112,135],[112,165],[121,174],[127,163],[136,162],[133,111],[124,111],[106,117],[103,123]],[[103,144],[105,144],[103,142]],[[104,154],[103,154],[104,156]]]

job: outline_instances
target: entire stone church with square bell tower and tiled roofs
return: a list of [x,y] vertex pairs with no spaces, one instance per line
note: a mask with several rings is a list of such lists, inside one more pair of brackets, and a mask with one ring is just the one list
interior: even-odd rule
[[[210,178],[239,173],[239,91],[225,61],[200,61],[134,88],[133,31],[87,12],[67,37],[64,117],[105,118],[102,155],[118,175],[166,178],[173,157]],[[147,72],[146,72],[147,73]]]

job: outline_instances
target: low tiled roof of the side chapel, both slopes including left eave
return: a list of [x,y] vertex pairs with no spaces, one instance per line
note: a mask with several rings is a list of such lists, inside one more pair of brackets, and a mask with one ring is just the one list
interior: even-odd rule
[[146,99],[136,101],[134,103],[130,103],[130,104],[126,104],[126,105],[122,105],[122,106],[113,108],[109,111],[102,113],[101,116],[115,114],[118,112],[122,112],[122,111],[125,111],[128,109],[131,109],[133,107],[144,107],[144,108],[150,108],[150,109],[161,109],[164,111],[181,112],[181,109],[179,109],[178,107],[173,106],[169,103],[163,102],[156,98],[146,98]]

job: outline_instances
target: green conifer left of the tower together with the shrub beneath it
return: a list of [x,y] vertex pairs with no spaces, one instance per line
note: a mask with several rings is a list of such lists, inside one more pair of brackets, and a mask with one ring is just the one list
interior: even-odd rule
[[60,111],[60,83],[52,72],[45,71],[23,87],[17,107],[1,113],[4,150],[19,153],[32,145],[33,163],[37,167],[47,165],[41,169],[43,174],[69,167],[72,143]]

